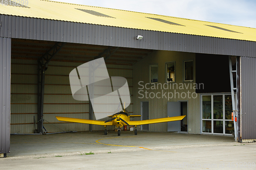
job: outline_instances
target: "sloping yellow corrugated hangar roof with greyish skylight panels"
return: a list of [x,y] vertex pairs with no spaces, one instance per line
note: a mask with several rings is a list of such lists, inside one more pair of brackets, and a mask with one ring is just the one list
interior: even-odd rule
[[[0,14],[256,41],[256,29],[163,15],[43,0],[0,1]],[[6,3],[7,2],[7,3]]]

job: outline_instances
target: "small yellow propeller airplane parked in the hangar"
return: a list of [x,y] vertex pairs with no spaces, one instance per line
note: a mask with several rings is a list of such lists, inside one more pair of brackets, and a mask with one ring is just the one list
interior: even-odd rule
[[63,122],[73,122],[73,123],[81,123],[81,124],[92,124],[92,125],[102,125],[105,127],[104,129],[104,135],[106,135],[108,132],[106,131],[106,126],[116,126],[118,128],[117,134],[120,136],[121,134],[121,127],[125,125],[133,125],[135,126],[134,134],[137,135],[137,126],[139,125],[146,125],[146,124],[156,124],[156,123],[162,123],[162,122],[172,122],[177,120],[182,120],[185,116],[175,116],[175,117],[165,117],[165,118],[155,118],[155,119],[148,119],[148,120],[137,120],[137,121],[131,121],[131,117],[140,117],[141,115],[130,115],[129,112],[127,112],[125,109],[113,114],[112,117],[109,120],[106,121],[100,121],[100,120],[89,120],[89,119],[81,119],[81,118],[70,118],[70,117],[60,117],[56,116],[56,118],[59,121]]

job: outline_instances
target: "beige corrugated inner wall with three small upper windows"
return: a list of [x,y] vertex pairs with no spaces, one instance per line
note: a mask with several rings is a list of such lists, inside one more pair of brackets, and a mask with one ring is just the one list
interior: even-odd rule
[[[162,118],[167,117],[167,102],[177,102],[177,101],[187,101],[188,105],[188,115],[187,115],[187,122],[188,122],[188,133],[193,134],[199,134],[200,133],[200,96],[199,94],[195,99],[191,98],[191,94],[195,92],[194,85],[195,80],[190,83],[183,82],[183,61],[184,60],[194,60],[194,70],[195,70],[195,59],[196,55],[193,53],[183,53],[183,52],[171,52],[171,51],[156,51],[153,52],[151,55],[149,55],[147,58],[144,58],[143,60],[140,60],[138,63],[136,63],[133,66],[133,77],[134,77],[134,111],[137,114],[140,114],[140,102],[141,101],[149,101],[150,105],[150,113],[149,118]],[[139,89],[142,88],[138,83],[140,81],[143,81],[143,83],[140,83],[141,85],[145,86],[146,83],[149,83],[149,65],[150,64],[158,64],[158,83],[164,84],[166,83],[166,63],[167,62],[175,62],[176,63],[176,83],[178,86],[175,86],[175,89],[172,86],[172,89]],[[194,74],[195,75],[195,74]],[[182,83],[184,88],[182,88]],[[173,85],[173,83],[168,83],[169,85]],[[188,87],[186,89],[185,85]],[[153,85],[147,85],[147,88],[153,87]],[[178,89],[176,89],[178,87]],[[145,94],[145,91],[148,93],[154,93],[160,92],[158,94],[158,98],[156,97],[151,99],[146,99],[145,96],[143,99],[139,99],[142,97],[141,94],[139,94],[139,90],[143,90],[140,93]],[[188,95],[188,90],[190,92],[190,98]],[[166,92],[166,98],[163,96],[163,94]],[[168,99],[167,93],[172,92],[173,94],[177,94],[176,98],[175,95],[173,98]],[[183,93],[184,92],[184,93]],[[182,96],[179,94],[183,93]],[[185,95],[186,93],[186,95]],[[170,93],[171,94],[171,93]],[[153,94],[151,96],[154,96]],[[194,93],[194,96],[195,93]],[[189,131],[190,129],[190,131]],[[167,123],[160,123],[160,124],[151,124],[150,125],[150,131],[158,131],[158,132],[167,132]]]

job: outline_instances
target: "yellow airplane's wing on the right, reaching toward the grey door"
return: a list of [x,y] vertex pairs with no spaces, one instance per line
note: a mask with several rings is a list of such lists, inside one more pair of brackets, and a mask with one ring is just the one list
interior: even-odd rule
[[185,116],[175,116],[175,117],[165,117],[165,118],[155,118],[149,120],[138,120],[138,121],[129,121],[129,125],[146,125],[146,124],[156,124],[162,122],[172,122],[177,120],[182,120]]

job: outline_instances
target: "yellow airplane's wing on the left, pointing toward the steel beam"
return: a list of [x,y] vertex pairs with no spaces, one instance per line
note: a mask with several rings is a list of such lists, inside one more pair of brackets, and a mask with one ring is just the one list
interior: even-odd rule
[[73,123],[81,123],[81,124],[92,124],[92,125],[112,125],[112,122],[100,121],[100,120],[89,120],[82,118],[71,118],[71,117],[60,117],[56,116],[59,121],[63,122],[73,122]]

